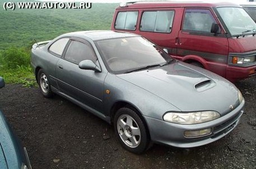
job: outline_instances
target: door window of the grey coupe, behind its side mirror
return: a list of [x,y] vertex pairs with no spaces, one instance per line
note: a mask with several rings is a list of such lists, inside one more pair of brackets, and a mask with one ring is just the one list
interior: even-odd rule
[[96,56],[91,47],[74,40],[69,44],[64,59],[76,64],[80,63],[82,60],[92,60],[96,62]]

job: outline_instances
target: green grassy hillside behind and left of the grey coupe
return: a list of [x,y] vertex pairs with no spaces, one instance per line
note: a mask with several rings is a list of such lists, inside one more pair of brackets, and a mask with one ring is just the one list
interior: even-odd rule
[[118,4],[92,3],[90,9],[3,9],[4,2],[35,2],[32,0],[0,1],[0,76],[7,83],[34,86],[30,67],[30,49],[37,41],[51,40],[72,31],[110,30]]

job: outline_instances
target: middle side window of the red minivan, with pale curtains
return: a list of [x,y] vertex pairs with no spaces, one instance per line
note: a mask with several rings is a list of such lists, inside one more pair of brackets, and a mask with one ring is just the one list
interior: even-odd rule
[[141,31],[170,33],[174,11],[145,11],[141,18]]

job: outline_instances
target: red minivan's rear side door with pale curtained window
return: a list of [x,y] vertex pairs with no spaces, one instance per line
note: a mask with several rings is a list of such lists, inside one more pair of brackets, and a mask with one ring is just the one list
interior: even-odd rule
[[178,38],[183,8],[150,8],[142,9],[141,13],[135,33],[167,49],[169,54],[176,53],[175,38]]

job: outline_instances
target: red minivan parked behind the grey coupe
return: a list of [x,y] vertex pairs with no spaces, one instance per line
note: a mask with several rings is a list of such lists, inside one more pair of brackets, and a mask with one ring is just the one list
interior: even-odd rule
[[145,36],[174,58],[232,82],[256,75],[256,24],[235,3],[121,3],[111,30]]

